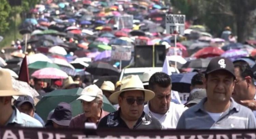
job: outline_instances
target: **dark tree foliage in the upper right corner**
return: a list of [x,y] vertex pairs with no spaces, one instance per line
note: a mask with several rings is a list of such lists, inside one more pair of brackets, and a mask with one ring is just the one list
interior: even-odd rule
[[219,36],[225,26],[233,28],[238,41],[244,42],[252,34],[255,23],[256,0],[171,0],[174,7],[193,20],[206,25]]

